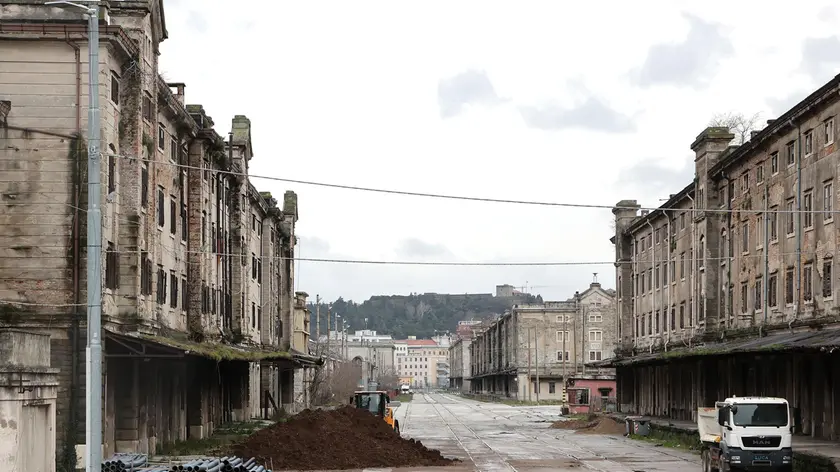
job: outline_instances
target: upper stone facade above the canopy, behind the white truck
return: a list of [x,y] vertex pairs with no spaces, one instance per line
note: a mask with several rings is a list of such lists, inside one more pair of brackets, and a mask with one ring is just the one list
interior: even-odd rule
[[655,211],[617,204],[627,347],[664,349],[705,332],[840,310],[833,82],[742,146],[729,146],[725,128],[706,129],[692,144],[695,182]]

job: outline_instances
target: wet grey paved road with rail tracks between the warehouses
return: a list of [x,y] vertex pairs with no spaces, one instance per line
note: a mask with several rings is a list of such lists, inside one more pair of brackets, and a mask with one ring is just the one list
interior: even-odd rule
[[[463,465],[406,471],[699,471],[699,456],[621,436],[549,429],[559,407],[481,403],[415,394],[397,410],[404,436]],[[474,465],[473,465],[474,464]],[[367,469],[373,470],[373,469]]]

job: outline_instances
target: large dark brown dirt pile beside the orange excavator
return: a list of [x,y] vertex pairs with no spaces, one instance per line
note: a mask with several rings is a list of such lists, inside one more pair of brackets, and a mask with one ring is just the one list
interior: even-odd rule
[[443,466],[459,462],[419,441],[398,436],[382,418],[345,406],[304,410],[257,431],[233,454],[255,457],[273,470],[341,470],[367,467]]

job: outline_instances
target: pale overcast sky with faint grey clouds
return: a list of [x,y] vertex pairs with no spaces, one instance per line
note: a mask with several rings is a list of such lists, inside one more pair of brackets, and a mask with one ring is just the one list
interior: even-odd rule
[[[718,112],[784,112],[840,72],[831,1],[165,0],[161,71],[226,135],[253,124],[251,173],[516,200],[646,206],[688,184]],[[645,6],[643,6],[645,5]],[[614,258],[609,210],[298,194],[300,257],[565,262]],[[611,264],[369,266],[302,261],[312,298],[489,293],[565,299]]]

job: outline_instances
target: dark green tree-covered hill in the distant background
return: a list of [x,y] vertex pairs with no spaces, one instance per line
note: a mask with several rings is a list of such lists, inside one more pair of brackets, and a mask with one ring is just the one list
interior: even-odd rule
[[[350,325],[348,331],[360,329],[376,330],[390,334],[394,339],[408,336],[429,338],[446,331],[455,333],[462,320],[482,320],[502,314],[514,304],[542,303],[542,297],[521,294],[512,297],[498,297],[490,293],[450,295],[423,293],[411,295],[378,295],[355,303],[340,298],[332,303],[332,313],[341,315]],[[312,310],[312,337],[315,337],[316,306]],[[321,303],[321,334],[327,333],[327,308]],[[367,318],[367,326],[365,326]],[[335,317],[332,320],[335,329]]]

